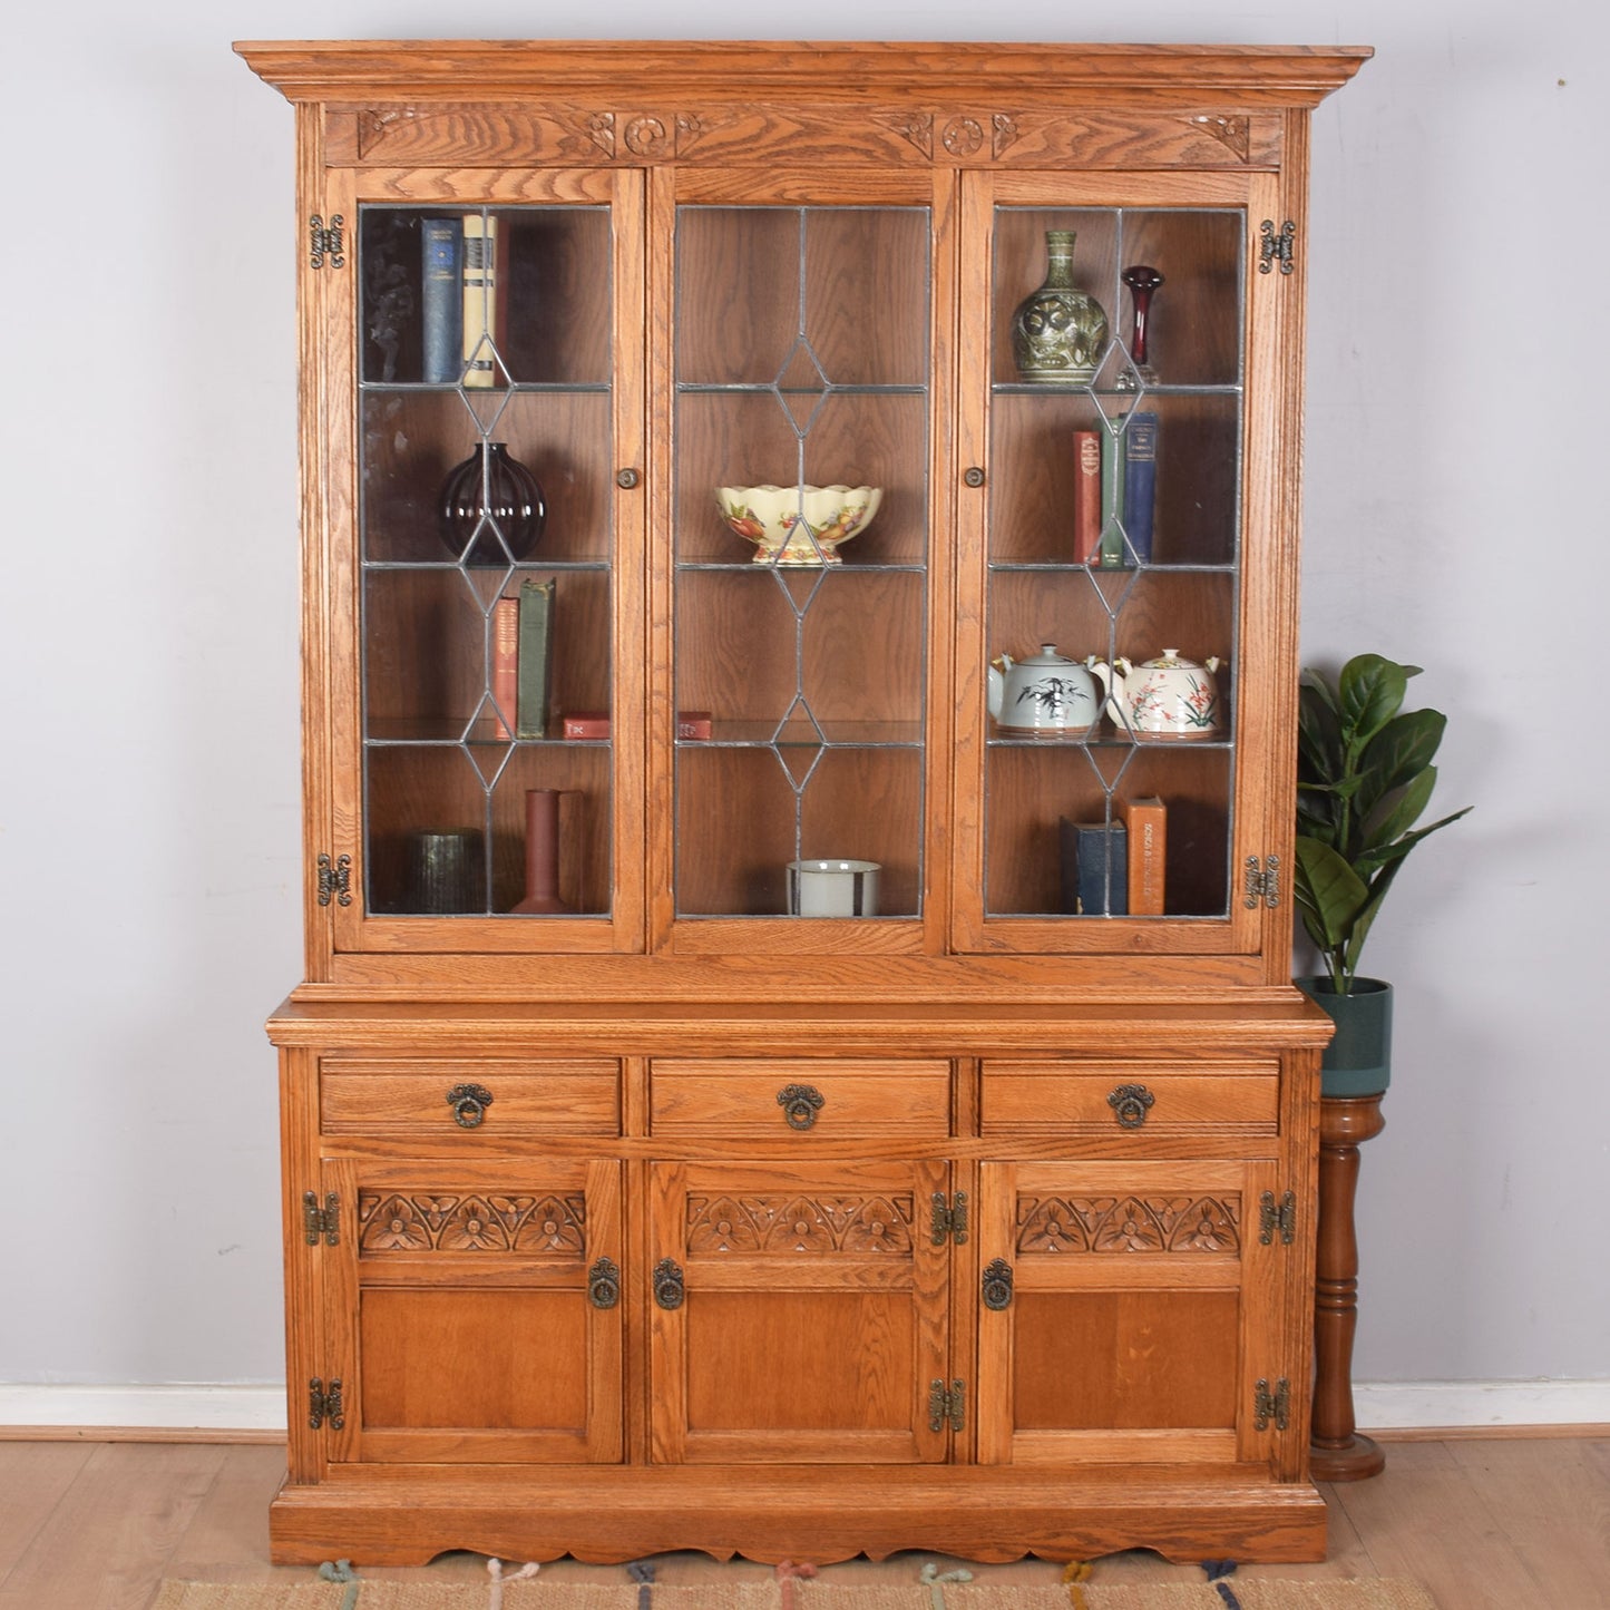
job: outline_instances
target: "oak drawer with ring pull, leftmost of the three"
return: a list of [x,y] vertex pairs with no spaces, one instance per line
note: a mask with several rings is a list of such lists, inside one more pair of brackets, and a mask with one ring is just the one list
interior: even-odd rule
[[327,1135],[618,1135],[620,1067],[327,1056],[319,1127]]

